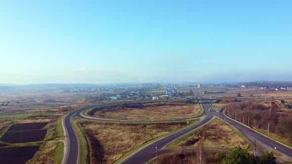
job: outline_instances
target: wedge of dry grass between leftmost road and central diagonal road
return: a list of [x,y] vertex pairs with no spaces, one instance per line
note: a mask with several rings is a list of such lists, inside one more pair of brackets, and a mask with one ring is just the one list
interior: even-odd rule
[[96,123],[82,121],[91,164],[111,164],[146,141],[178,130],[187,123]]

